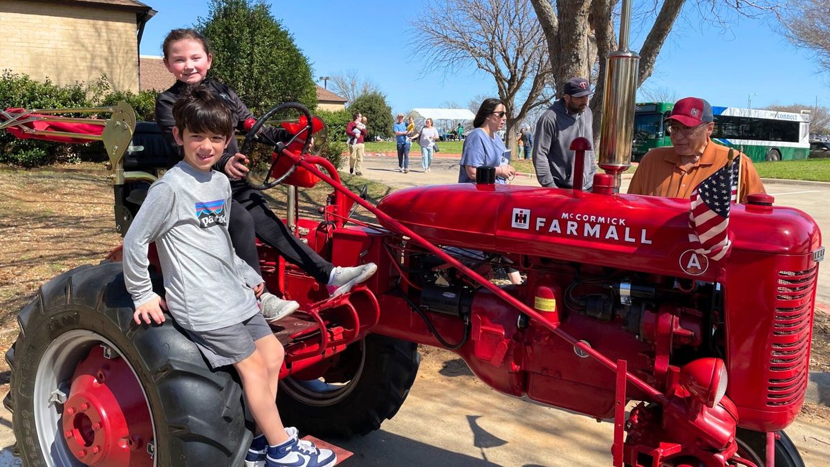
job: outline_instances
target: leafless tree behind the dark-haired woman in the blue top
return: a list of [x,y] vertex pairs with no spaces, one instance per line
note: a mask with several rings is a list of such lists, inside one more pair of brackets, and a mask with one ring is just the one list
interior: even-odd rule
[[508,147],[514,147],[515,125],[553,98],[544,33],[530,0],[432,2],[419,17],[441,18],[412,23],[411,47],[431,64],[428,70],[449,74],[473,65],[493,76],[507,111]]

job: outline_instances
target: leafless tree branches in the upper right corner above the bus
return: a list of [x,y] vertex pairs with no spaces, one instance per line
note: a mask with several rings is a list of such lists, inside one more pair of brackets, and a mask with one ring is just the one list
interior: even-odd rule
[[816,66],[820,70],[830,67],[830,7],[827,0],[789,2],[781,25],[790,42],[815,52]]

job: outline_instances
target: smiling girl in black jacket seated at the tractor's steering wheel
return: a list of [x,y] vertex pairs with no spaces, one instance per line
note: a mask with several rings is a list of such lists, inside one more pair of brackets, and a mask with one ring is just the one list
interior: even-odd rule
[[[192,84],[205,83],[210,91],[221,97],[232,111],[234,126],[244,130],[245,121],[252,117],[251,111],[230,87],[207,78],[213,60],[207,39],[193,29],[173,29],[165,37],[162,48],[164,66],[176,77],[175,84],[156,98],[156,122],[168,144],[176,146],[173,137],[173,105],[183,90]],[[271,141],[287,141],[292,136],[286,130],[273,127],[264,127],[262,134]],[[181,156],[180,151],[178,154]],[[259,237],[264,243],[276,248],[289,263],[299,266],[319,283],[329,286],[334,296],[349,292],[354,284],[364,282],[377,271],[374,263],[354,268],[334,267],[308,245],[300,242],[271,211],[261,192],[251,189],[245,182],[247,162],[247,157],[238,151],[236,138],[231,138],[214,169],[232,179],[233,209],[230,209],[232,214],[227,219],[227,227],[237,255],[251,268],[260,272],[259,253],[256,251],[256,237]],[[268,322],[286,317],[300,307],[293,300],[283,300],[268,292],[261,294],[260,302]]]

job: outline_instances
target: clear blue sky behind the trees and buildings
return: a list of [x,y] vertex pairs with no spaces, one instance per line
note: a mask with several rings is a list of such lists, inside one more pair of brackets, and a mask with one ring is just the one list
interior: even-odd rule
[[[192,26],[207,16],[203,0],[143,1],[158,11],[144,31],[144,55],[161,55],[170,29]],[[422,76],[424,63],[411,52],[408,33],[410,22],[424,19],[421,0],[270,3],[271,12],[311,61],[315,78],[357,70],[378,85],[395,112],[447,101],[466,106],[475,96],[496,94],[493,78],[472,68],[446,77],[440,71]],[[830,75],[818,71],[808,52],[786,42],[768,21],[732,19],[727,29],[711,26],[687,3],[644,86],[678,98],[704,97],[715,106],[745,107],[749,95],[754,95],[753,107],[797,102],[813,106],[817,98],[819,106],[830,106]],[[632,24],[633,50],[646,33]]]

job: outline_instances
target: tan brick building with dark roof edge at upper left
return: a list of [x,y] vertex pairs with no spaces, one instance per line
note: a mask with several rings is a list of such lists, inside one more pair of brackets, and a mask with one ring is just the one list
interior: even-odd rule
[[139,91],[139,42],[155,10],[134,0],[0,0],[0,70],[60,85]]

